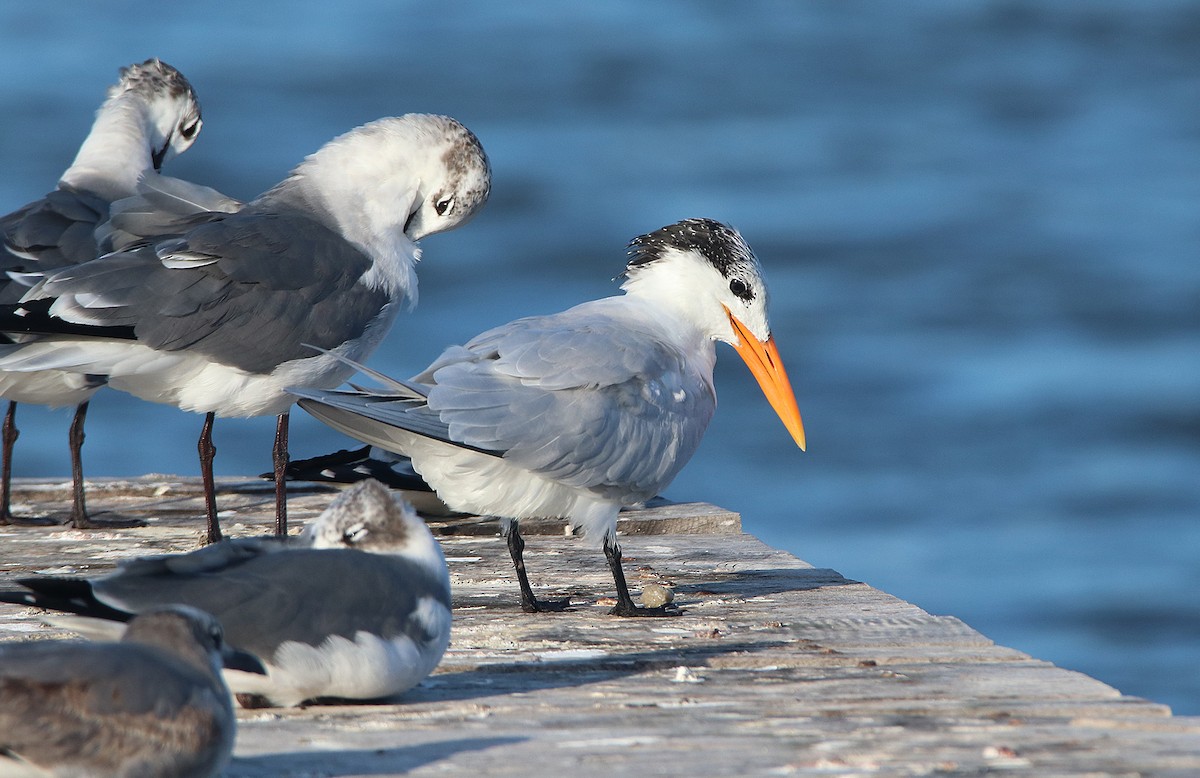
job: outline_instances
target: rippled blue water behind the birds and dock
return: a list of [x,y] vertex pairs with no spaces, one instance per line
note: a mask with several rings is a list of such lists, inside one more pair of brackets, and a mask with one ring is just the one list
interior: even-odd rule
[[[731,349],[671,486],[998,642],[1200,713],[1200,6],[1183,1],[7,4],[0,209],[47,190],[116,68],[204,104],[169,173],[251,197],[335,134],[448,113],[494,166],[425,243],[397,375],[611,294],[635,234],[738,226],[800,454]],[[19,475],[67,474],[23,407]],[[218,425],[266,469],[271,424]],[[106,393],[95,475],[194,473],[199,418]],[[299,456],[347,442],[296,414]]]

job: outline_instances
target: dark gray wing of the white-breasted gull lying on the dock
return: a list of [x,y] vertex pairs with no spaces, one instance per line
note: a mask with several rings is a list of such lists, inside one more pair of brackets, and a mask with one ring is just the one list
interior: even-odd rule
[[318,646],[329,635],[353,640],[359,630],[426,640],[419,620],[410,620],[418,600],[433,597],[450,608],[449,592],[419,565],[352,549],[292,549],[223,567],[172,570],[179,567],[192,565],[122,569],[96,581],[92,591],[101,602],[133,612],[167,603],[199,608],[217,617],[226,642],[268,659],[284,641]]

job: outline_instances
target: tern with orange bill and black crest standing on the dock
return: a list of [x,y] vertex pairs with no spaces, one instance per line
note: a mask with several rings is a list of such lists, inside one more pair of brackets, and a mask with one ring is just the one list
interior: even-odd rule
[[689,219],[635,238],[622,289],[488,330],[407,382],[359,366],[384,387],[292,391],[334,429],[409,456],[451,510],[500,517],[523,610],[565,604],[534,598],[518,522],[564,517],[599,537],[614,614],[662,615],[630,598],[617,513],[659,493],[700,445],[715,341],[737,349],[802,449],[804,427],[737,231]]

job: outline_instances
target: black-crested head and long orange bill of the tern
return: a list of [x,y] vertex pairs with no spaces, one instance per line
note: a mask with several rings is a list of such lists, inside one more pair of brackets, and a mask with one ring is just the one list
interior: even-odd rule
[[629,257],[622,288],[732,345],[803,449],[800,412],[767,321],[767,282],[738,231],[712,219],[686,219],[635,238]]

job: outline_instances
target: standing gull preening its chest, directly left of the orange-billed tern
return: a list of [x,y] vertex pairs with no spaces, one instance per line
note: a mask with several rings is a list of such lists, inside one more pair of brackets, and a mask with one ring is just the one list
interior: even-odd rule
[[[278,417],[282,473],[294,401],[284,387],[344,381],[353,367],[338,358],[370,354],[415,305],[418,241],[467,222],[490,188],[484,149],[458,121],[366,124],[235,213],[198,215],[181,234],[43,274],[0,312],[0,331],[32,334],[0,346],[0,370],[101,375],[143,400],[204,413],[208,538],[218,540],[215,417]],[[278,534],[286,511],[278,478]]]

